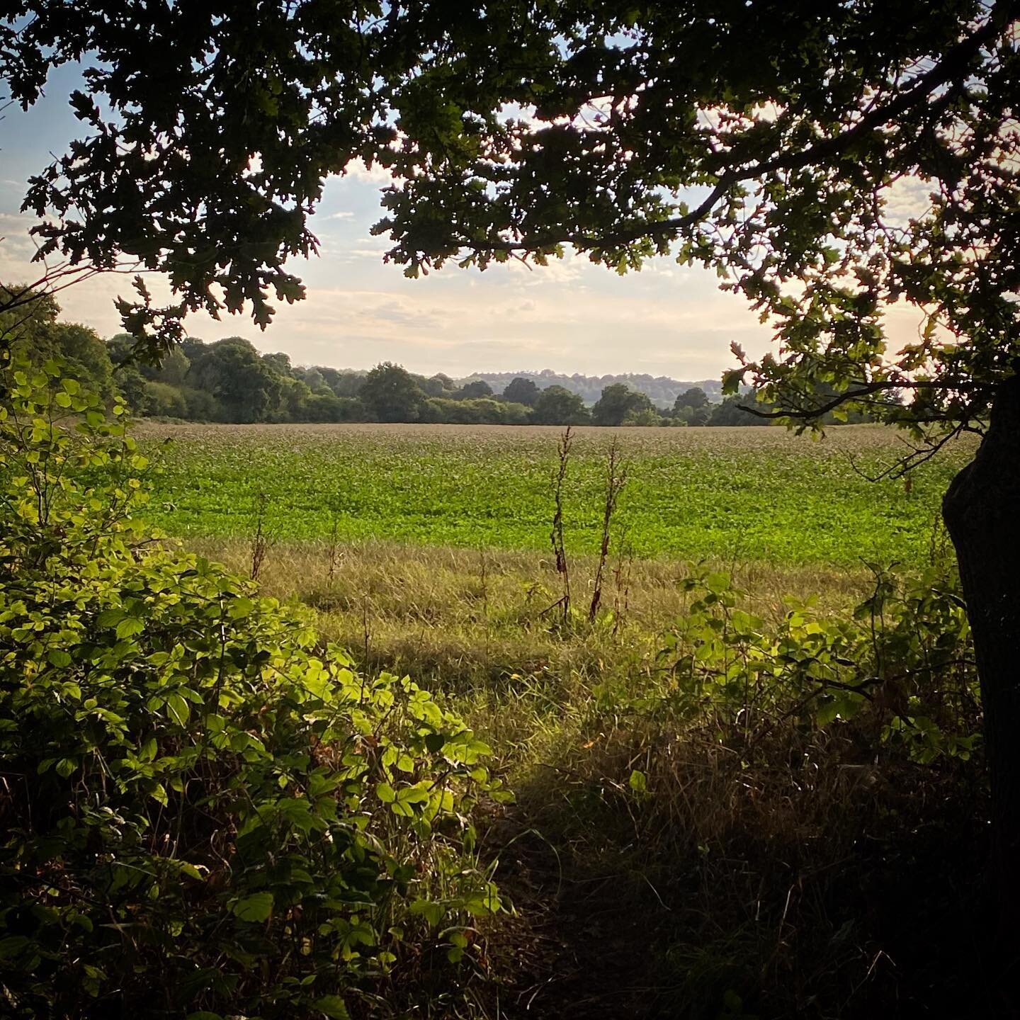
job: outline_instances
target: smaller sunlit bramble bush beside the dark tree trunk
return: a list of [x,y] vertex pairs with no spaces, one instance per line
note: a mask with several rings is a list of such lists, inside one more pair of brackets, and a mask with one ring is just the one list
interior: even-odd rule
[[741,608],[723,573],[694,571],[687,612],[669,633],[669,711],[714,717],[760,737],[784,719],[809,727],[856,721],[915,761],[968,759],[980,713],[970,626],[955,564],[872,567],[874,586],[852,616],[817,600],[784,600],[776,625]]

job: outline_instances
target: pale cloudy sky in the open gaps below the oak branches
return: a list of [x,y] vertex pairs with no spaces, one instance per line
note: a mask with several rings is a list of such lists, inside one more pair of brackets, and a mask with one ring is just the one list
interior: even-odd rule
[[[46,99],[0,119],[0,279],[30,278],[32,220],[18,208],[28,176],[50,153],[62,154],[81,128],[66,104],[76,79],[76,68],[60,68]],[[568,258],[530,271],[517,263],[484,272],[450,266],[407,279],[382,264],[386,239],[369,234],[382,184],[364,167],[329,182],[312,221],[320,255],[290,266],[308,298],[282,307],[264,333],[225,314],[220,321],[194,316],[189,332],[205,340],[241,335],[263,351],[285,351],[295,364],[364,368],[391,360],[451,375],[552,368],[700,379],[731,367],[732,341],[753,354],[768,347],[769,330],[742,299],[718,291],[714,274],[669,259],[622,277]],[[60,300],[67,318],[110,336],[113,298],[126,290],[123,277],[100,278]]]

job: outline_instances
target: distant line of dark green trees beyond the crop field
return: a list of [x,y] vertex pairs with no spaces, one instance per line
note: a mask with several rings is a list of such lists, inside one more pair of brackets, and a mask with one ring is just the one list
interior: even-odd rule
[[756,425],[769,420],[743,409],[755,404],[753,394],[712,403],[702,387],[690,387],[671,407],[660,409],[647,393],[617,381],[604,386],[589,407],[567,387],[541,387],[526,375],[510,378],[497,394],[478,376],[462,382],[443,373],[426,377],[388,361],[370,371],[292,365],[288,355],[261,354],[242,337],[212,344],[186,339],[155,366],[136,361],[128,336],[104,342],[88,326],[57,321],[57,314],[54,302],[41,302],[21,346],[39,361],[62,357],[91,389],[110,399],[121,395],[143,417],[609,426]]

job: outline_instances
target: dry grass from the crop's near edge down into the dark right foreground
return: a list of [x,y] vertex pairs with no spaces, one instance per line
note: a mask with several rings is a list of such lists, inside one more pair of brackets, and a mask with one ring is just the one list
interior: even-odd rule
[[[250,566],[243,542],[190,545]],[[612,579],[603,599],[626,604],[614,628],[583,618],[596,559],[571,561],[581,612],[564,630],[546,612],[560,592],[551,556],[302,543],[262,564],[263,590],[315,607],[325,635],[447,699],[517,793],[481,825],[517,913],[490,931],[502,983],[477,987],[478,1015],[1009,1015],[975,990],[988,948],[974,907],[980,771],[912,764],[866,721],[789,719],[749,743],[724,721],[628,706],[667,686],[657,652],[684,611],[685,569],[627,566],[625,600]],[[869,590],[863,570],[715,566],[771,619],[784,596],[838,614]]]

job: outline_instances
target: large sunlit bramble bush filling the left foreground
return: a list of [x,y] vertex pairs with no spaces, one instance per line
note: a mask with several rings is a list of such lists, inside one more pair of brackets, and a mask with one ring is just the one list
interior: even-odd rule
[[456,988],[500,910],[470,821],[508,796],[489,748],[140,523],[122,406],[53,362],[0,374],[0,1012],[393,1015],[428,973]]

